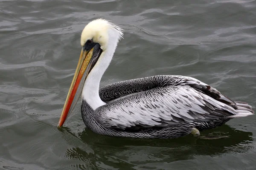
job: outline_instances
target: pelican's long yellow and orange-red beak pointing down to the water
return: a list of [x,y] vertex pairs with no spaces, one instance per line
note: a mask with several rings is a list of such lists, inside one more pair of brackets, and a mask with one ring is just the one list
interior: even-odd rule
[[91,68],[95,65],[102,50],[100,49],[99,44],[94,45],[90,50],[84,51],[81,50],[79,62],[76,68],[76,72],[73,78],[73,81],[70,85],[70,90],[67,94],[67,99],[64,104],[61,117],[58,122],[58,128],[60,128],[67,116],[73,111],[76,106],[76,103],[81,95],[82,89],[84,87],[84,82],[89,74]]

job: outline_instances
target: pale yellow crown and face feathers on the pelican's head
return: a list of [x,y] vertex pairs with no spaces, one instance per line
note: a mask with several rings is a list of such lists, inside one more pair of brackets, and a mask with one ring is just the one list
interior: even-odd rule
[[[113,33],[111,37],[109,35],[110,32]],[[93,40],[93,42],[99,43],[101,49],[105,51],[110,38],[115,38],[118,42],[122,37],[123,32],[120,27],[100,18],[91,21],[84,27],[81,34],[81,45],[83,46],[87,40]]]

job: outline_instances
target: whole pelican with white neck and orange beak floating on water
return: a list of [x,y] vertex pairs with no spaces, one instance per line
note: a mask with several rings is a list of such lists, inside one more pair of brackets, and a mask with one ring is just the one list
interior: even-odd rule
[[215,88],[185,76],[158,75],[99,88],[122,29],[93,20],[81,33],[81,54],[61,117],[60,128],[81,96],[81,115],[94,133],[132,138],[177,138],[215,128],[254,113]]

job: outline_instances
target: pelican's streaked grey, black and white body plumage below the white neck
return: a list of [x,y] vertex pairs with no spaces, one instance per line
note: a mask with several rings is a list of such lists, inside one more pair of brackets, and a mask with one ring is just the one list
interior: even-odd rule
[[253,114],[192,77],[159,75],[131,79],[99,89],[106,105],[93,110],[82,100],[85,125],[95,133],[135,138],[177,138],[193,127],[205,130],[233,117]]

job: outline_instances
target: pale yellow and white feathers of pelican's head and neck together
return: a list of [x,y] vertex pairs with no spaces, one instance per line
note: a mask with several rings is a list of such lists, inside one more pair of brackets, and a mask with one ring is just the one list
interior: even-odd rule
[[93,20],[85,26],[81,34],[81,45],[87,40],[99,43],[102,49],[98,61],[88,74],[82,91],[83,99],[95,110],[106,103],[99,97],[99,83],[111,62],[117,43],[122,38],[122,29],[104,19]]

